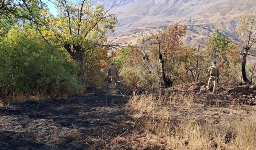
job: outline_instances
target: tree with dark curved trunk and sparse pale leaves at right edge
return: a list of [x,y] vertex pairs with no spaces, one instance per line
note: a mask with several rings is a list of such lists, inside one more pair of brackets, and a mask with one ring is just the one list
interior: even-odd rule
[[246,57],[252,52],[252,48],[256,45],[256,14],[250,16],[244,14],[241,18],[241,23],[236,30],[236,34],[240,40],[238,44],[242,50],[240,52],[242,62],[242,78],[245,83],[252,84],[246,76]]

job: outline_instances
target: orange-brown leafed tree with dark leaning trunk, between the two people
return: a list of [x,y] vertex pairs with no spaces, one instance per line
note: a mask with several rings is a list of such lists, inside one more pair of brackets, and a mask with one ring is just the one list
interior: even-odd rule
[[152,49],[158,56],[164,86],[172,86],[173,81],[180,78],[172,79],[172,74],[176,71],[175,66],[179,65],[176,58],[182,51],[182,37],[186,35],[186,30],[186,26],[174,24],[160,34],[156,32],[150,38]]

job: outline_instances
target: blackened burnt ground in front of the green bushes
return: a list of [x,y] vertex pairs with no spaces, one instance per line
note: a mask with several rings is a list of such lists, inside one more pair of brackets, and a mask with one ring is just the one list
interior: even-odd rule
[[0,108],[0,149],[108,148],[114,138],[130,134],[132,118],[124,107],[128,98],[102,90],[65,101],[4,104]]

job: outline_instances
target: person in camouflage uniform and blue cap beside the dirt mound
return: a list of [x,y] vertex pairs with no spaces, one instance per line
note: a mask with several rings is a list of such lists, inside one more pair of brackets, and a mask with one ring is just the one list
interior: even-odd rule
[[206,86],[206,88],[208,90],[210,90],[210,84],[213,82],[213,91],[212,91],[212,93],[214,93],[214,91],[217,87],[218,76],[220,75],[220,70],[216,66],[216,64],[217,64],[216,60],[213,60],[212,61],[212,66],[210,66],[210,68],[208,69],[208,72],[206,74],[206,76],[209,76],[208,84]]

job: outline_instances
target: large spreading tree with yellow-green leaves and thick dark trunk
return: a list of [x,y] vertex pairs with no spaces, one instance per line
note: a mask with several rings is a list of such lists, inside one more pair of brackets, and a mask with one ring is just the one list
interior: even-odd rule
[[87,0],[81,0],[78,4],[69,0],[56,0],[56,6],[58,17],[44,19],[42,35],[46,40],[55,39],[54,42],[78,62],[78,76],[82,82],[85,54],[90,58],[97,54],[98,48],[113,46],[107,44],[106,34],[114,32],[117,19],[114,14],[109,14],[110,10],[105,10],[102,5],[94,8]]

